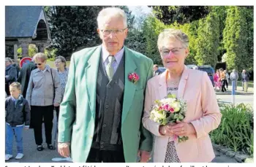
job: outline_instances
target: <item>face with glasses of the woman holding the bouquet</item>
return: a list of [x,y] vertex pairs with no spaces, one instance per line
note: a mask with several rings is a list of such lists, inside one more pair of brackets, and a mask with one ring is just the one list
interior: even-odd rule
[[178,39],[165,39],[159,50],[162,63],[166,69],[178,70],[184,66],[189,49],[185,48]]

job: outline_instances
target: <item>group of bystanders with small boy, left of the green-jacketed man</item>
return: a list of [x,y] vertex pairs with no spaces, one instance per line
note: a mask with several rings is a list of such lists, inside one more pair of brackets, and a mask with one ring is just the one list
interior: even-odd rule
[[[15,136],[18,155],[23,158],[22,129],[33,128],[37,150],[42,151],[42,123],[45,125],[45,139],[48,149],[52,144],[53,110],[59,117],[61,104],[67,84],[68,69],[62,56],[56,57],[56,69],[47,64],[47,56],[37,53],[32,61],[19,70],[10,58],[5,59],[6,90],[6,153],[5,160],[12,158],[12,139]],[[19,70],[19,71],[18,71]],[[24,124],[24,125],[23,125]]]

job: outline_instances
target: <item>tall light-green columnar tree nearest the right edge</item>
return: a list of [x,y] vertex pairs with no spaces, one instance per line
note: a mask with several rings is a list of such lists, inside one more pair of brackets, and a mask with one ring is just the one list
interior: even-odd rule
[[[248,52],[249,29],[252,24],[246,23],[245,7],[229,7],[227,9],[227,19],[224,29],[224,46],[227,50],[227,68],[247,69],[252,66],[253,55]],[[249,28],[248,28],[249,27]],[[252,40],[252,39],[251,39]]]

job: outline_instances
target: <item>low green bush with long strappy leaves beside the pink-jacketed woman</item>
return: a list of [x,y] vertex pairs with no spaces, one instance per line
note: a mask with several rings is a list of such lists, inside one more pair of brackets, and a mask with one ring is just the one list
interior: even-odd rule
[[222,104],[222,121],[219,128],[211,131],[216,144],[253,156],[254,114],[251,106]]

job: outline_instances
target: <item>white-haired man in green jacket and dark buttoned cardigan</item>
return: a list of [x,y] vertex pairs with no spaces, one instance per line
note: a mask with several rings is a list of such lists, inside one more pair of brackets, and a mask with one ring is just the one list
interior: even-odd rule
[[138,155],[146,162],[153,138],[141,119],[153,61],[124,46],[123,10],[102,9],[97,22],[102,44],[71,58],[59,113],[59,153],[80,163],[132,163]]

